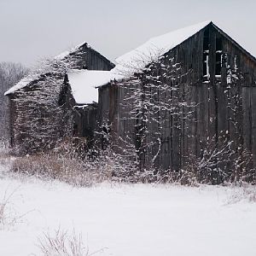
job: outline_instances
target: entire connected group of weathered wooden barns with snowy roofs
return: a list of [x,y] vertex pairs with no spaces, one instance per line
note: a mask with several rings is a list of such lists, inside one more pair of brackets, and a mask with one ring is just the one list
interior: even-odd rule
[[[101,142],[142,172],[255,181],[256,60],[212,21],[152,38],[115,67],[87,44],[78,49],[83,61],[56,94],[64,123],[50,131],[55,137],[71,121],[69,136],[86,137],[90,147]],[[30,137],[15,128],[17,92],[33,91],[44,75],[6,93],[13,146]]]

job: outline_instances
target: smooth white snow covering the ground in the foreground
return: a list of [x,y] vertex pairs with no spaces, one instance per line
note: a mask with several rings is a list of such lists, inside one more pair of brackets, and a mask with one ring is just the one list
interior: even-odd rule
[[[0,230],[0,255],[41,255],[43,232],[76,230],[95,255],[256,255],[256,203],[241,189],[103,183],[73,188],[0,177],[16,224]],[[236,197],[236,196],[235,196]],[[24,216],[21,216],[25,214]],[[21,216],[21,217],[20,217]]]

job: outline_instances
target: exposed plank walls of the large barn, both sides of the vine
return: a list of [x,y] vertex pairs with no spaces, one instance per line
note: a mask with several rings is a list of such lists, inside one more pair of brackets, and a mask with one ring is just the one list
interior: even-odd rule
[[[179,90],[183,92],[184,101],[195,107],[183,109],[184,119],[166,116],[161,130],[161,150],[154,167],[172,172],[191,168],[193,160],[200,159],[206,148],[222,150],[227,142],[232,142],[230,148],[235,154],[227,153],[219,163],[215,159],[216,165],[212,166],[212,183],[220,183],[225,176],[235,178],[230,165],[244,150],[253,154],[251,166],[256,168],[256,61],[215,26],[210,25],[208,29],[209,78],[203,76],[203,40],[207,28],[166,53],[181,63],[183,73],[188,73],[180,81]],[[221,76],[215,75],[218,38],[222,42]],[[241,79],[229,84],[228,73],[234,74],[235,70]],[[125,138],[125,134],[134,132],[134,123],[122,119],[129,107],[120,107],[129,95],[127,89],[110,85],[102,87],[99,94],[100,119],[108,117],[118,137]],[[114,114],[109,114],[111,112]],[[186,118],[189,112],[191,115]],[[152,130],[150,142],[158,128],[150,124],[148,127]],[[156,150],[151,148],[145,153],[145,166]],[[218,170],[224,173],[219,174]],[[206,178],[206,173],[199,175],[201,180]]]

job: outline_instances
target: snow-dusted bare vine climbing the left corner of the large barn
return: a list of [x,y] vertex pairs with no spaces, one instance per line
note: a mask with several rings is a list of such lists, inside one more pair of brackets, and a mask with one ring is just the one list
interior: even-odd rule
[[[142,59],[147,58],[142,56]],[[160,168],[160,155],[169,139],[166,134],[172,130],[180,132],[184,120],[191,119],[195,112],[195,102],[189,101],[185,90],[189,86],[186,79],[193,70],[184,70],[171,55],[150,62],[141,72],[118,82],[125,95],[120,103],[119,120],[130,128],[125,136],[118,138],[116,152],[123,154],[129,144],[133,150],[129,159],[137,162],[140,172]]]

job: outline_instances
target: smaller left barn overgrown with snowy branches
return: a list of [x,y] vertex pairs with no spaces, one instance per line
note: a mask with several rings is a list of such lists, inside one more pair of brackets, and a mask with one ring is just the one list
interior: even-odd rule
[[[5,92],[9,96],[10,144],[22,154],[44,150],[74,127],[61,110],[63,86],[70,68],[108,71],[114,67],[103,55],[83,43],[55,56],[47,68],[36,70]],[[75,104],[75,102],[73,102]]]

